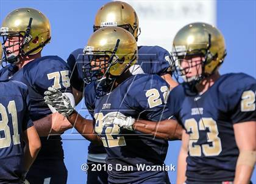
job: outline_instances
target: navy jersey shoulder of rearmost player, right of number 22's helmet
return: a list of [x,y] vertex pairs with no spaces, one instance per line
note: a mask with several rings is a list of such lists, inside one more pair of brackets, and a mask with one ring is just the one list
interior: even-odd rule
[[144,73],[165,75],[171,73],[170,54],[159,46],[139,46],[138,61]]

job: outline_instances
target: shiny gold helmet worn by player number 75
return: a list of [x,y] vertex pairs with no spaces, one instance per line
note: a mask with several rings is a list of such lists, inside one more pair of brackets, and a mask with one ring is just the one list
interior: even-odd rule
[[[2,22],[0,36],[4,39],[4,55],[8,61],[8,48],[13,45],[7,44],[10,36],[19,38],[19,55],[27,56],[40,52],[45,44],[51,39],[51,26],[48,18],[38,10],[20,8],[10,12]],[[16,56],[18,57],[18,56]],[[12,61],[11,61],[12,62]]]

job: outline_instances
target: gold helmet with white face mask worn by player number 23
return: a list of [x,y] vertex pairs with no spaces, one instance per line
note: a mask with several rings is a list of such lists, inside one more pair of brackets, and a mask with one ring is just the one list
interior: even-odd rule
[[182,75],[183,78],[186,69],[180,66],[180,61],[193,56],[203,58],[202,74],[194,78],[197,82],[218,70],[226,56],[225,40],[222,33],[216,27],[203,22],[188,24],[180,29],[174,37],[172,51],[176,74]]

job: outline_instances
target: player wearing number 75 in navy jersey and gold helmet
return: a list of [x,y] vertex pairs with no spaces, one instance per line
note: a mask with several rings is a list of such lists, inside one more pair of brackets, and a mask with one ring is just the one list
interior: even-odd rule
[[[31,101],[30,117],[41,139],[41,150],[27,174],[30,183],[66,183],[60,134],[71,124],[52,107],[44,104],[43,93],[49,86],[73,97],[69,87],[69,67],[59,56],[41,56],[51,39],[48,18],[42,12],[20,8],[10,12],[2,22],[5,62],[0,79],[21,81],[27,85]],[[74,100],[72,100],[74,101]],[[49,135],[55,134],[55,135]],[[57,134],[57,135],[56,135]]]

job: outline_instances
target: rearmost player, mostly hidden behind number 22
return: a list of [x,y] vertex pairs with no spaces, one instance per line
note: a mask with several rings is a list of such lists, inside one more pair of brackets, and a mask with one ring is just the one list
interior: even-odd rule
[[[140,27],[138,16],[135,10],[126,2],[114,1],[108,2],[103,5],[97,12],[94,19],[93,31],[106,26],[118,26],[128,30],[138,40]],[[73,70],[71,75],[71,86],[73,87],[73,94],[76,104],[82,99],[83,90],[85,97],[85,104],[88,111],[93,117],[93,111],[95,108],[94,100],[96,98],[95,88],[104,88],[94,81],[91,84],[84,83],[85,78],[83,72],[83,66],[85,63],[85,70],[90,68],[90,62],[87,57],[84,56],[84,49],[76,49],[69,55],[68,64]],[[138,47],[138,61],[130,68],[130,72],[134,75],[138,73],[157,74],[164,78],[171,88],[175,87],[177,83],[171,78],[169,53],[167,50],[159,46],[139,46]],[[90,81],[88,82],[90,83]],[[98,89],[99,90],[99,89]],[[104,89],[102,89],[104,90]],[[97,146],[90,143],[88,147],[88,163],[105,163],[107,154],[103,146]],[[107,182],[107,172],[93,171],[88,169],[87,183],[95,183],[98,180],[99,183]]]

